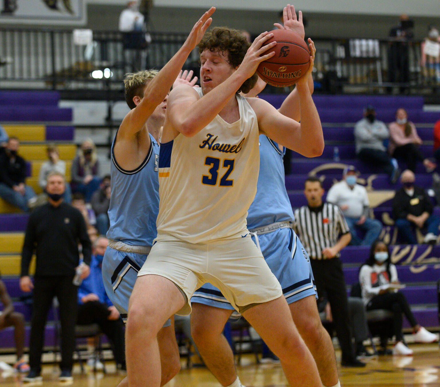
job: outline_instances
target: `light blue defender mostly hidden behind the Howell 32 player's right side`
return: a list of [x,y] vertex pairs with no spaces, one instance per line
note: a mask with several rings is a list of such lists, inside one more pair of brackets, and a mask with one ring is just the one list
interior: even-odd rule
[[[283,18],[284,26],[275,26],[304,37],[301,11],[297,19],[294,7],[287,6]],[[315,51],[314,46],[312,50]],[[311,75],[308,85],[312,93]],[[260,88],[251,91],[250,96],[258,94],[264,86],[260,81]],[[295,88],[279,108],[280,113],[295,120],[301,116],[298,93]],[[306,148],[304,144],[304,151]],[[309,258],[292,229],[294,217],[284,181],[284,150],[275,141],[260,135],[260,174],[257,195],[248,211],[248,229],[282,286],[293,321],[315,359],[323,386],[340,387],[333,344],[319,319]],[[191,302],[191,333],[205,364],[223,386],[242,387],[236,376],[231,347],[222,333],[233,308],[211,284],[199,288]]]

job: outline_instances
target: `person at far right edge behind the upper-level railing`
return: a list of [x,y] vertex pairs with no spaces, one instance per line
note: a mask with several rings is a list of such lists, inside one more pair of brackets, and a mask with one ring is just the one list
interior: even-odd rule
[[429,26],[428,36],[421,44],[421,65],[427,81],[440,83],[440,36],[439,30]]

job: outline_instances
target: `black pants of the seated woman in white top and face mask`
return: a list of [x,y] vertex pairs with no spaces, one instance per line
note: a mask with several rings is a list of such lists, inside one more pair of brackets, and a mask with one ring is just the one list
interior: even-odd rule
[[393,318],[393,333],[396,335],[396,341],[401,341],[402,335],[402,313],[405,315],[411,327],[417,325],[417,321],[411,312],[407,299],[400,293],[384,293],[374,296],[367,304],[367,310],[387,309],[391,310]]

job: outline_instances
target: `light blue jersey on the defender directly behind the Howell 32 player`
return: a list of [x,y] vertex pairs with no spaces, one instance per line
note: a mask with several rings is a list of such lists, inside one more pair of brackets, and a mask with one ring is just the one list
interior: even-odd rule
[[293,210],[284,184],[284,152],[263,134],[260,140],[260,174],[257,195],[248,210],[247,227],[256,229],[275,222],[293,221]]

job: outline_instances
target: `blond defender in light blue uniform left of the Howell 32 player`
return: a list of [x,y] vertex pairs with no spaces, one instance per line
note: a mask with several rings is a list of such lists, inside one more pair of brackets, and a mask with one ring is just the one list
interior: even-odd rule
[[[173,87],[195,84],[197,78],[191,81],[192,72],[182,74],[180,69],[211,24],[210,16],[214,11],[213,7],[205,12],[182,48],[159,72],[150,70],[127,74],[124,81],[125,97],[131,110],[122,121],[112,144],[109,247],[103,259],[106,292],[124,320],[128,317],[128,299],[137,271],[147,259],[157,235],[158,141],[165,119],[167,95],[173,82]],[[164,385],[180,369],[171,321],[166,321],[158,332],[158,342],[162,363],[160,384]],[[128,386],[127,378],[119,386]]]

